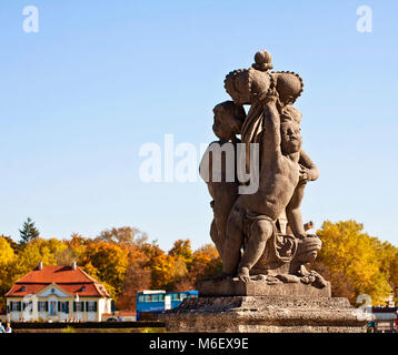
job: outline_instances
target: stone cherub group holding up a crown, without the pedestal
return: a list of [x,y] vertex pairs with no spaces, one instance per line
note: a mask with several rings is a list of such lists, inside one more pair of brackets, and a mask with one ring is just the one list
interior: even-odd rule
[[[215,213],[210,235],[223,265],[218,278],[238,276],[247,283],[263,275],[322,287],[324,278],[305,267],[316,258],[321,242],[305,232],[300,211],[307,182],[319,176],[316,164],[302,150],[301,113],[292,105],[302,93],[304,83],[297,73],[270,72],[271,55],[266,51],[257,52],[255,61],[250,69],[236,70],[226,77],[225,88],[233,102],[216,106],[225,112],[219,118],[215,109],[218,143],[232,144],[235,153],[230,156],[237,169],[236,145],[240,141],[236,135],[240,133],[245,143],[245,173],[258,169],[259,179],[257,191],[239,194],[242,183],[236,176],[242,172],[237,171],[235,180],[227,180],[226,164],[219,164],[221,181],[211,176],[207,181]],[[250,105],[247,115],[245,104]],[[251,164],[250,144],[258,144],[258,168]],[[202,162],[215,175],[212,163],[225,158],[211,153],[212,159],[208,150]],[[282,216],[291,233],[283,227]]]

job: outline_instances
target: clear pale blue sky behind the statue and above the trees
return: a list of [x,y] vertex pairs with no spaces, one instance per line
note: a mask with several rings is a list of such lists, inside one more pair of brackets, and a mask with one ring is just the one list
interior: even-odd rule
[[[26,6],[39,32],[22,30]],[[356,29],[359,6],[372,32]],[[169,248],[210,242],[203,182],[139,180],[146,142],[211,142],[225,75],[267,49],[300,73],[304,146],[320,178],[302,212],[355,219],[398,245],[397,32],[390,1],[0,3],[0,233],[31,216],[44,237],[133,225]]]

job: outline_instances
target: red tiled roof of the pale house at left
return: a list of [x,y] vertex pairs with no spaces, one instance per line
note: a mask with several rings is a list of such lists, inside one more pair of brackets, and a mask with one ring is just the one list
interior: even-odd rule
[[[43,266],[42,270],[36,268],[19,278],[6,296],[23,297],[29,294],[36,294],[50,284],[57,284],[61,290],[73,296],[79,294],[79,296],[109,297],[105,286],[78,266],[74,270],[72,266]],[[83,287],[86,287],[86,291],[83,291]]]

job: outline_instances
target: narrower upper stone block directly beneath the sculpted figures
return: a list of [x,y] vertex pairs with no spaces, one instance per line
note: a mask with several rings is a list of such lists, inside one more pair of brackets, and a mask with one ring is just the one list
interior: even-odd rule
[[311,284],[277,282],[269,283],[265,278],[242,282],[238,277],[228,277],[220,281],[203,280],[198,282],[200,296],[304,296],[330,297],[330,283],[316,287]]

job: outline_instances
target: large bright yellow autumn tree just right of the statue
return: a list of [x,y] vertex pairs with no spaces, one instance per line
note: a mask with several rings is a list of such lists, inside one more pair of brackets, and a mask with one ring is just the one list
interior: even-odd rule
[[389,275],[382,270],[378,240],[355,221],[326,221],[317,235],[324,244],[315,265],[329,273],[332,296],[348,296],[356,303],[358,295],[368,294],[374,304],[381,304],[391,287]]

